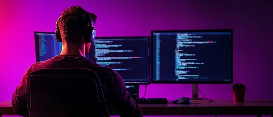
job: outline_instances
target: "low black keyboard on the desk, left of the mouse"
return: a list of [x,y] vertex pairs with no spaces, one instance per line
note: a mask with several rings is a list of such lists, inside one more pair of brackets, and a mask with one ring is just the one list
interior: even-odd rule
[[166,98],[139,98],[135,100],[139,104],[167,104]]

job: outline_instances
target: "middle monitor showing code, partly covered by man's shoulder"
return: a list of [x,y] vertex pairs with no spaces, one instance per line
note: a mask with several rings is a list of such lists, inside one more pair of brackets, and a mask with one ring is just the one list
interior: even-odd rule
[[114,69],[126,85],[150,83],[150,37],[96,37],[90,60]]

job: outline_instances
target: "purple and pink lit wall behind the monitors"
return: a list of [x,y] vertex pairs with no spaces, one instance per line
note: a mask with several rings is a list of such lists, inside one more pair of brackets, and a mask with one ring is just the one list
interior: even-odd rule
[[[271,0],[0,0],[0,101],[10,101],[35,63],[34,31],[54,32],[61,12],[79,5],[98,16],[97,36],[150,36],[151,30],[233,29],[234,83],[246,100],[273,99]],[[200,84],[210,99],[232,100],[232,84]],[[144,85],[140,86],[140,97]],[[190,84],[147,85],[145,98],[191,97]],[[201,94],[199,94],[202,97]]]

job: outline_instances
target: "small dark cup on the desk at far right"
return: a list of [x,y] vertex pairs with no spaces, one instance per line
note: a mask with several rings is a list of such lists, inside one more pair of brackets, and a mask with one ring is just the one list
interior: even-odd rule
[[244,84],[237,83],[232,86],[233,92],[233,101],[236,102],[244,102],[245,101],[245,92],[246,87]]

